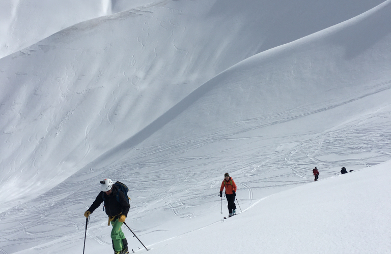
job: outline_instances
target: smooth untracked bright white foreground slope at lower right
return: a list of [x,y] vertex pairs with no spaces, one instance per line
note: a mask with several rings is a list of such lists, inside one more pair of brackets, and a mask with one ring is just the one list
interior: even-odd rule
[[150,252],[391,253],[390,167],[388,161],[277,193]]

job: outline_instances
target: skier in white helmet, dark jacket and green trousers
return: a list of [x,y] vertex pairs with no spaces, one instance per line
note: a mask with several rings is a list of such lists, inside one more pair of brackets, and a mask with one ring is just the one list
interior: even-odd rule
[[111,222],[111,226],[113,226],[111,230],[111,242],[113,243],[114,253],[129,253],[128,242],[121,229],[129,211],[127,195],[119,189],[117,186],[118,182],[113,184],[111,179],[104,179],[100,184],[102,191],[98,194],[90,208],[84,213],[84,216],[88,217],[104,202],[103,210],[106,210],[108,222]]

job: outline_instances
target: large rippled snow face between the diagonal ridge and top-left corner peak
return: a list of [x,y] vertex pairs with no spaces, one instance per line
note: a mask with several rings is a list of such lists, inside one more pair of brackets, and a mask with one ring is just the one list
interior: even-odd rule
[[[336,1],[331,9],[309,2],[295,6],[311,7],[303,13],[282,0],[137,2],[143,7],[79,23],[3,57],[0,209],[55,186],[235,63],[376,1]],[[297,36],[289,35],[292,27],[274,26],[298,17],[311,27],[298,27]],[[286,40],[270,43],[274,37]],[[23,200],[11,191],[21,183]]]

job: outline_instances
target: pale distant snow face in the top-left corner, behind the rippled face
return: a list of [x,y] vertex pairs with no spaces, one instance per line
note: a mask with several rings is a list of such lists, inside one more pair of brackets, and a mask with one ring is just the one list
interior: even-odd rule
[[154,0],[11,0],[0,2],[0,58],[81,21],[110,15]]

